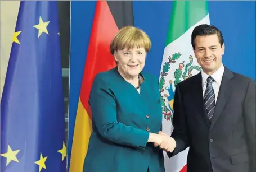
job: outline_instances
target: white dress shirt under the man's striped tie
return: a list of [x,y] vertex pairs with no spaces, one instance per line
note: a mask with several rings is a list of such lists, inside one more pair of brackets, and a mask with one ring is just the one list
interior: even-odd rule
[[[222,80],[222,76],[224,73],[224,66],[223,64],[221,64],[221,67],[214,72],[211,76],[214,79],[213,82],[213,90],[214,90],[214,94],[215,94],[215,102],[217,101],[217,97],[218,97],[218,93],[219,93],[219,87],[221,86],[221,80]],[[202,86],[203,86],[203,96],[204,96],[204,92],[206,90],[206,86],[207,86],[207,78],[209,77],[209,75],[207,75],[203,70],[202,70]]]

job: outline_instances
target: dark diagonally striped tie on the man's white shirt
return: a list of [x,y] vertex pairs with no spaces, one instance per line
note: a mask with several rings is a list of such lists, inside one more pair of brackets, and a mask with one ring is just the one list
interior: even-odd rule
[[204,105],[210,122],[212,121],[215,108],[215,94],[213,90],[213,81],[213,77],[209,76],[207,78],[207,86],[204,94]]

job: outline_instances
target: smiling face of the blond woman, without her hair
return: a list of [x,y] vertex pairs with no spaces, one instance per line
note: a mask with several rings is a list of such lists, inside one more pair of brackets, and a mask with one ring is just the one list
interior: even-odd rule
[[145,66],[146,60],[145,48],[116,50],[114,57],[119,68],[126,77],[137,76]]

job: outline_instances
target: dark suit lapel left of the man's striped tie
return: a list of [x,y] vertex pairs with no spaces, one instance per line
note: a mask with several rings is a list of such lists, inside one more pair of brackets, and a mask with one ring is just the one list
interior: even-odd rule
[[198,113],[201,115],[208,128],[210,128],[209,119],[207,118],[206,110],[204,107],[201,72],[195,75],[195,83],[192,86],[192,96],[194,97],[194,101],[196,103],[196,106],[198,107]]

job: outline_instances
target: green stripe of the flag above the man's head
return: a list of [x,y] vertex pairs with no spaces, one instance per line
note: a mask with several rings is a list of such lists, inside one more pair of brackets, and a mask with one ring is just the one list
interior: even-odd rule
[[173,1],[166,45],[208,15],[207,1]]

